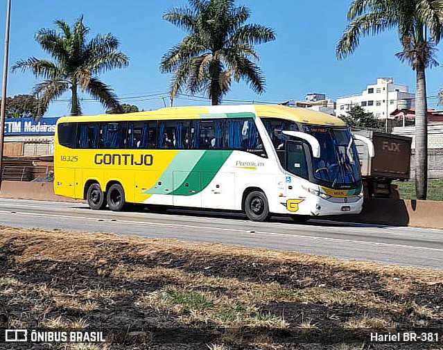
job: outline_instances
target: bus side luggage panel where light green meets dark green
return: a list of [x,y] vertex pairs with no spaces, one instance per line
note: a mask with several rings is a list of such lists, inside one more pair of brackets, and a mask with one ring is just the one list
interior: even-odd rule
[[173,171],[173,204],[180,207],[202,207],[200,172]]

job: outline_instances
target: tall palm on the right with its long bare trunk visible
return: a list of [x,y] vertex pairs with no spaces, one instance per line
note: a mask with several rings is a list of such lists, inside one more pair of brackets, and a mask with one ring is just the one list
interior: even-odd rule
[[416,74],[415,95],[415,191],[426,199],[428,184],[428,130],[426,68],[437,64],[435,45],[443,37],[441,0],[355,0],[347,13],[349,24],[338,41],[338,59],[353,53],[361,37],[397,28],[403,51],[401,61]]

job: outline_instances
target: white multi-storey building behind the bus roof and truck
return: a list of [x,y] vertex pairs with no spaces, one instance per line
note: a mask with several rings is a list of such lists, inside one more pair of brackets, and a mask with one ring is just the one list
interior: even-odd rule
[[361,106],[377,119],[393,119],[394,110],[410,109],[415,105],[415,94],[406,85],[394,84],[394,78],[377,78],[375,85],[367,85],[361,95],[341,97],[336,101],[336,116],[347,115],[351,107]]

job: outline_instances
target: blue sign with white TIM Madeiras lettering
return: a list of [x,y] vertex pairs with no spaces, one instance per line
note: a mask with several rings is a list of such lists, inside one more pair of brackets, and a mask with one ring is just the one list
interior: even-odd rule
[[42,118],[35,121],[33,118],[5,119],[5,135],[53,135],[58,118]]

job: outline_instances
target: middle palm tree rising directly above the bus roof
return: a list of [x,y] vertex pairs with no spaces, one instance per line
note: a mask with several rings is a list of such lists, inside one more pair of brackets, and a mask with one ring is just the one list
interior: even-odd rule
[[173,98],[186,88],[192,95],[202,91],[212,105],[236,82],[246,80],[261,94],[265,79],[256,62],[254,44],[275,40],[271,28],[245,24],[250,10],[234,6],[234,0],[189,0],[191,8],[173,8],[164,15],[166,21],[184,29],[188,35],[166,53],[160,64],[162,73],[174,73]]

